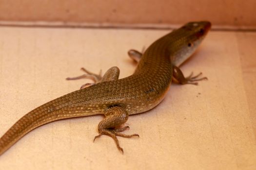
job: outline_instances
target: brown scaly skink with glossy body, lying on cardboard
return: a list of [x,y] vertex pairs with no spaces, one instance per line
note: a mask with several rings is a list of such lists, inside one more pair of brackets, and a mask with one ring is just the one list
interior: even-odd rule
[[184,77],[179,66],[188,59],[211,28],[209,21],[189,22],[177,30],[156,40],[145,52],[130,50],[128,54],[138,66],[126,78],[118,79],[119,68],[112,67],[101,77],[83,69],[87,74],[68,80],[90,78],[94,84],[85,84],[81,89],[61,96],[30,111],[20,118],[1,138],[0,155],[33,129],[59,119],[104,115],[98,123],[98,136],[114,139],[123,153],[117,136],[133,137],[121,132],[129,126],[119,128],[129,115],[146,112],[160,103],[172,80],[179,84],[194,84],[207,79],[192,74]]

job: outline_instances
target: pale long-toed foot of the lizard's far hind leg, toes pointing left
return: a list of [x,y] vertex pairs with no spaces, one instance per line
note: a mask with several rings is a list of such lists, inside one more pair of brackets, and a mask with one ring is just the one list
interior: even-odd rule
[[87,73],[87,74],[83,74],[83,75],[78,76],[78,77],[68,77],[68,78],[66,78],[66,80],[91,79],[91,80],[94,81],[94,83],[86,83],[86,84],[82,85],[82,86],[80,87],[80,89],[82,89],[82,88],[88,87],[88,86],[90,86],[90,85],[95,85],[95,84],[97,84],[98,82],[100,82],[101,79],[102,79],[101,70],[99,71],[98,74],[92,73],[92,72],[88,71],[88,70],[85,69],[85,68],[81,68],[81,70],[84,71],[84,72]]

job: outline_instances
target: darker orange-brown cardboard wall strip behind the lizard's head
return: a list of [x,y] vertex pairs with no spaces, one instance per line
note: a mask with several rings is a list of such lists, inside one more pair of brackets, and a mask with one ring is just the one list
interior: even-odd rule
[[216,28],[256,28],[255,7],[256,0],[0,0],[0,23],[169,27],[210,20]]

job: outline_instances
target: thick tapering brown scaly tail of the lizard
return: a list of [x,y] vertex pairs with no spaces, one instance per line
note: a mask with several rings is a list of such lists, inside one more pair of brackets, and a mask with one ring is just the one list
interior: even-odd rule
[[0,155],[33,129],[59,119],[95,115],[84,110],[72,109],[65,96],[47,102],[20,118],[1,138]]

